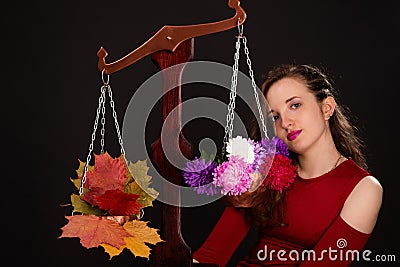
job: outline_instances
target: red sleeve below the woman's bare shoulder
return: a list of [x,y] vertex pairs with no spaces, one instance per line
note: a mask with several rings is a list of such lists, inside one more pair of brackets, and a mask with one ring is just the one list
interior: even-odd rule
[[338,216],[312,249],[315,258],[305,256],[299,266],[350,266],[353,261],[362,260],[361,250],[370,236],[354,229]]

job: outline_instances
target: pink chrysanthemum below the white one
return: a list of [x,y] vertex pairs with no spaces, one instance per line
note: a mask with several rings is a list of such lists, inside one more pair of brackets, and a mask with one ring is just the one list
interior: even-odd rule
[[240,195],[251,185],[251,165],[242,157],[232,155],[214,170],[214,184],[224,195]]

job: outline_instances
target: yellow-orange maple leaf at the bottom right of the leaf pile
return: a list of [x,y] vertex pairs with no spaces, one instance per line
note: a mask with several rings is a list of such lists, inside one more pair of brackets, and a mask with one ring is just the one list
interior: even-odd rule
[[125,230],[131,235],[125,237],[126,247],[135,255],[139,257],[149,258],[150,247],[146,243],[155,245],[163,242],[158,234],[158,230],[151,228],[148,222],[132,220],[124,224]]

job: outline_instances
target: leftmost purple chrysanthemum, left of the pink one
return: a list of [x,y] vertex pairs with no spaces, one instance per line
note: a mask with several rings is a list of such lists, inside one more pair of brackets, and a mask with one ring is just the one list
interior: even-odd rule
[[213,184],[213,172],[217,165],[211,160],[206,161],[196,157],[186,163],[186,167],[182,171],[183,179],[198,194],[214,195],[217,193],[217,189]]

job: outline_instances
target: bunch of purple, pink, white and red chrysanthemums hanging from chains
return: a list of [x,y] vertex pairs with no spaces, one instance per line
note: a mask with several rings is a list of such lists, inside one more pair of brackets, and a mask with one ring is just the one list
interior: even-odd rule
[[296,177],[289,149],[278,137],[253,141],[237,136],[229,140],[226,152],[227,160],[219,165],[198,158],[188,162],[185,182],[198,194],[240,195],[260,184],[282,193]]

